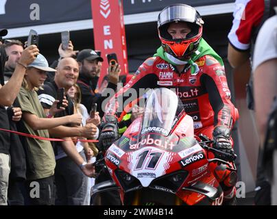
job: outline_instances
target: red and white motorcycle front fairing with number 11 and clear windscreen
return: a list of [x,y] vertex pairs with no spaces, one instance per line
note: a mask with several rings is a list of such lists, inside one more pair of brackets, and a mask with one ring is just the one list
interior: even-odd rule
[[[183,200],[188,191],[182,188],[204,178],[217,187],[212,176],[206,177],[210,175],[207,155],[194,139],[193,119],[178,108],[176,94],[164,89],[149,95],[143,117],[134,120],[106,151],[108,170],[122,196],[151,188]],[[203,198],[204,194],[197,201]]]

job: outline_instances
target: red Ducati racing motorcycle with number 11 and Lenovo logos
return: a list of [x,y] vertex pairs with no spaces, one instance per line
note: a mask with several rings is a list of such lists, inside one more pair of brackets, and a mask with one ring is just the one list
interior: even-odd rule
[[156,88],[143,116],[107,149],[103,162],[112,180],[93,186],[91,204],[101,205],[101,194],[118,191],[122,205],[221,205],[220,179],[210,164],[237,169],[234,163],[209,158],[211,152],[224,153],[210,144],[213,140],[205,136],[195,139],[193,118],[176,93]]

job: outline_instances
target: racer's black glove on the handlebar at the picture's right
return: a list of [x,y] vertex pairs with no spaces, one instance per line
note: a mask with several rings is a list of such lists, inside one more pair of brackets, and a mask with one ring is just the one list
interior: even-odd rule
[[215,157],[232,162],[235,159],[235,155],[230,142],[230,132],[230,129],[225,126],[217,126],[213,130],[213,138],[215,140],[214,148],[223,152],[215,152]]

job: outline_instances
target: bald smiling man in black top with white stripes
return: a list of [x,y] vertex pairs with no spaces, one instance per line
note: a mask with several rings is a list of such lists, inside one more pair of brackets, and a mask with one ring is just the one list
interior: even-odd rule
[[[43,90],[38,91],[38,98],[46,114],[49,114],[49,109],[57,99],[58,89],[64,88],[64,92],[67,93],[76,83],[79,75],[79,66],[72,57],[60,60],[56,69],[57,72],[54,80],[45,83]],[[68,107],[66,110],[56,114],[55,117],[74,114],[73,102],[69,96],[67,96],[67,100]],[[67,139],[67,142],[57,142],[54,145],[56,151],[56,204],[82,205],[84,203],[87,182],[84,180],[83,172],[88,177],[91,177],[93,172],[89,167],[92,167],[92,165],[86,164],[84,151],[78,153],[74,142],[69,137],[93,138],[97,132],[97,127],[92,123],[86,124],[84,127],[60,126],[50,129],[49,132],[53,137]]]

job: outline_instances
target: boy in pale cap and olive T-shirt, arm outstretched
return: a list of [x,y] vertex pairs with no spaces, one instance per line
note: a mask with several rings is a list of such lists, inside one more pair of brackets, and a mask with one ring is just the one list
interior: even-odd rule
[[[47,77],[47,71],[56,70],[49,68],[45,57],[38,54],[36,60],[27,66],[18,96],[27,133],[43,138],[49,138],[47,129],[68,123],[77,125],[81,123],[81,117],[77,114],[62,118],[46,118],[43,107],[38,101],[36,90],[40,86],[43,86]],[[64,110],[63,107],[58,110],[57,103],[58,101],[55,101],[50,109],[52,115]],[[56,162],[51,142],[36,138],[27,138],[27,159],[32,167],[32,172],[28,172],[26,181],[28,203],[30,205],[53,205],[56,196],[53,178]],[[39,196],[35,196],[35,198],[30,193],[30,190],[34,187],[34,181],[39,184],[40,192]]]

